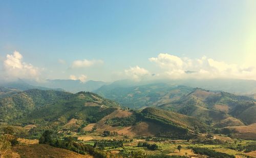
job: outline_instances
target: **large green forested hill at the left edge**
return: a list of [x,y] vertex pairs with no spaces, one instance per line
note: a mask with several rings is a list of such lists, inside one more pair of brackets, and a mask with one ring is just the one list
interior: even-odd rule
[[[58,122],[66,123],[66,120],[73,117],[93,120],[100,117],[101,114],[97,112],[101,111],[103,115],[104,109],[108,107],[118,107],[118,104],[89,92],[72,94],[30,89],[0,100],[0,120],[2,123],[30,122],[32,124],[53,123],[58,119]],[[90,114],[91,111],[93,114]],[[89,117],[87,114],[91,118],[87,118]]]

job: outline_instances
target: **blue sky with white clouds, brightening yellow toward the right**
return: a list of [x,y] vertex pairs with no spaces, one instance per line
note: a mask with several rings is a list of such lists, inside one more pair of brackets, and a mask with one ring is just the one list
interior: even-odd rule
[[256,1],[0,1],[1,80],[256,80]]

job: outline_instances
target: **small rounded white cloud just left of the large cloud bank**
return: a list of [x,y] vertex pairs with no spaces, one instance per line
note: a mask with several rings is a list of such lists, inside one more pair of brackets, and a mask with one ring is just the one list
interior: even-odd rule
[[124,73],[126,76],[134,79],[135,81],[140,81],[144,76],[150,75],[150,72],[139,66],[130,67],[130,69],[124,70]]

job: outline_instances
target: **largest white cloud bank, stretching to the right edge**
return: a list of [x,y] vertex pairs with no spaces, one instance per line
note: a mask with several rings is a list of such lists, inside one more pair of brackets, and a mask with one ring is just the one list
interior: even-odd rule
[[[159,54],[149,58],[170,78],[238,78],[256,79],[256,66],[229,64],[203,56],[200,59],[180,58],[170,54]],[[189,72],[189,73],[188,73]]]

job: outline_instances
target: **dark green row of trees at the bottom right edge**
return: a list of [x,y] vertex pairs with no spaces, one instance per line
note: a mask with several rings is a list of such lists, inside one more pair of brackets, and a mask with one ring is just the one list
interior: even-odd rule
[[192,148],[193,151],[197,154],[203,154],[203,155],[207,155],[209,157],[215,157],[215,158],[235,158],[234,155],[229,155],[223,152],[217,152],[214,150],[210,150],[207,148]]

